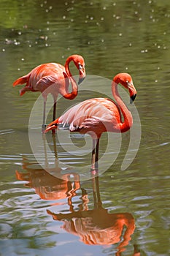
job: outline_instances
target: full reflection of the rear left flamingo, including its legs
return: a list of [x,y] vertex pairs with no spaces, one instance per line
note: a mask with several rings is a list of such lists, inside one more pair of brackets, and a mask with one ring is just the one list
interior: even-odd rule
[[[76,195],[77,189],[80,189],[80,177],[77,173],[69,172],[62,173],[61,167],[58,166],[57,151],[55,145],[55,134],[53,136],[55,167],[49,167],[47,162],[47,151],[45,151],[45,169],[34,166],[34,163],[29,163],[28,159],[23,158],[22,167],[26,173],[16,170],[16,177],[20,181],[28,181],[26,187],[35,189],[35,192],[43,200],[59,200],[67,198],[72,210],[72,197]],[[43,141],[45,141],[43,134]],[[55,176],[50,173],[55,173]],[[59,178],[58,178],[59,177]],[[71,181],[72,180],[72,181]]]

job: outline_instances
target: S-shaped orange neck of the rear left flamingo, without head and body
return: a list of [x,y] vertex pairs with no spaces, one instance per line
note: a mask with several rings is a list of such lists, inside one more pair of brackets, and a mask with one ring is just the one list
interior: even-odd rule
[[77,96],[77,92],[78,92],[77,83],[74,80],[74,78],[72,77],[72,73],[70,72],[70,69],[69,69],[70,61],[73,61],[73,57],[72,56],[69,56],[69,58],[66,59],[66,64],[64,66],[65,69],[66,69],[66,75],[68,75],[69,80],[71,81],[71,84],[72,84],[72,92],[63,95],[63,97],[66,98],[66,99],[74,99],[74,97]]

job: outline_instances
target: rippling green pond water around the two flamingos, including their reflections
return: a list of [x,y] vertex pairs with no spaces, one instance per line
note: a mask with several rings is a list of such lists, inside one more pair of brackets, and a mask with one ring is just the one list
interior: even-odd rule
[[[169,255],[169,1],[12,0],[0,6],[0,255]],[[88,75],[112,79],[129,72],[134,80],[142,137],[126,170],[120,167],[129,132],[113,165],[103,173],[102,161],[101,175],[90,180],[79,181],[76,172],[90,172],[90,138],[61,131],[55,148],[47,135],[58,160],[72,170],[58,165],[38,131],[32,152],[28,122],[39,93],[20,97],[22,86],[12,83],[38,64],[64,64],[73,53],[85,58]],[[99,96],[95,91],[110,93],[110,86],[93,93],[85,91],[87,82],[81,86],[74,102],[58,101],[58,116]],[[74,154],[65,150],[63,134],[76,146]],[[100,156],[107,141],[103,135]]]

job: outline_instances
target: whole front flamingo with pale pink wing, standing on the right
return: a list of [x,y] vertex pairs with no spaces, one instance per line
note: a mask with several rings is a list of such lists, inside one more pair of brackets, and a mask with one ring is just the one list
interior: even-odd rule
[[48,132],[50,129],[58,129],[60,125],[63,127],[69,125],[70,132],[88,133],[93,139],[92,172],[98,171],[98,147],[101,134],[103,132],[126,132],[133,124],[131,111],[128,110],[118,93],[119,83],[128,89],[130,102],[134,102],[136,89],[131,75],[119,73],[112,80],[112,95],[116,102],[107,98],[86,99],[67,110],[45,129],[45,132]]

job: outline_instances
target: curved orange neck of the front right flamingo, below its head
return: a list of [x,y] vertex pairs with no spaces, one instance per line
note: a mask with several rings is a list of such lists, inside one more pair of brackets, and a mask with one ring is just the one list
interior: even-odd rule
[[131,111],[128,110],[128,108],[126,107],[125,103],[123,102],[123,100],[121,99],[121,97],[118,93],[117,85],[118,85],[118,83],[116,83],[113,80],[112,81],[112,94],[117,102],[117,105],[120,108],[120,111],[123,114],[124,120],[120,122],[120,132],[126,132],[126,131],[128,131],[128,129],[131,128],[131,126],[133,124],[133,118],[131,115]]

